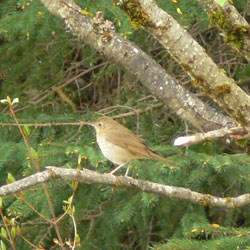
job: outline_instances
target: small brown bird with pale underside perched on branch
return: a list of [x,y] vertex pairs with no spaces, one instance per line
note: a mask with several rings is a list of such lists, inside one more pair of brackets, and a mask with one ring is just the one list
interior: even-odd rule
[[103,116],[88,124],[95,128],[97,143],[103,155],[118,165],[111,174],[135,159],[167,161],[152,151],[139,136],[110,117]]

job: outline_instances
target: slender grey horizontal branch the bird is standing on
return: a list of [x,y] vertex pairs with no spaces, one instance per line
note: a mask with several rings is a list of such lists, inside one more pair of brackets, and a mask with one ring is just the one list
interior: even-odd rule
[[201,194],[187,188],[168,186],[149,181],[133,179],[131,177],[101,174],[88,169],[82,171],[58,167],[47,167],[40,173],[33,174],[22,180],[0,187],[0,196],[16,194],[29,187],[44,183],[54,178],[64,181],[78,181],[87,184],[107,184],[117,188],[131,188],[143,192],[158,194],[169,198],[177,198],[204,206],[215,206],[221,208],[236,208],[250,204],[250,193],[237,197],[220,198],[209,194]]

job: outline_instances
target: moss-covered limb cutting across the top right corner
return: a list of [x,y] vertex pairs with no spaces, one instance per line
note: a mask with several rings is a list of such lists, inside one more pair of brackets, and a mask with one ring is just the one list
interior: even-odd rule
[[199,0],[212,24],[234,50],[250,62],[250,25],[228,1],[220,6],[215,0]]

